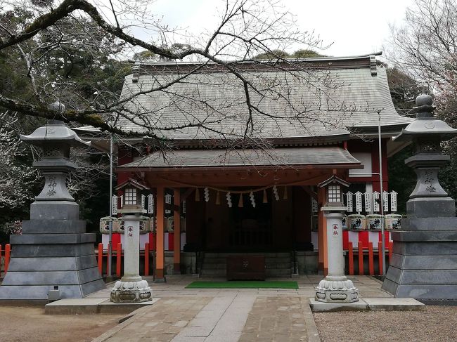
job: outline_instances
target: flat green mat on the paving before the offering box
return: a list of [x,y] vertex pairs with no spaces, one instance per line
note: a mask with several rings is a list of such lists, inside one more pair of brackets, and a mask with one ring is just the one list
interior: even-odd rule
[[298,289],[297,282],[262,282],[238,280],[232,282],[191,282],[186,289]]

